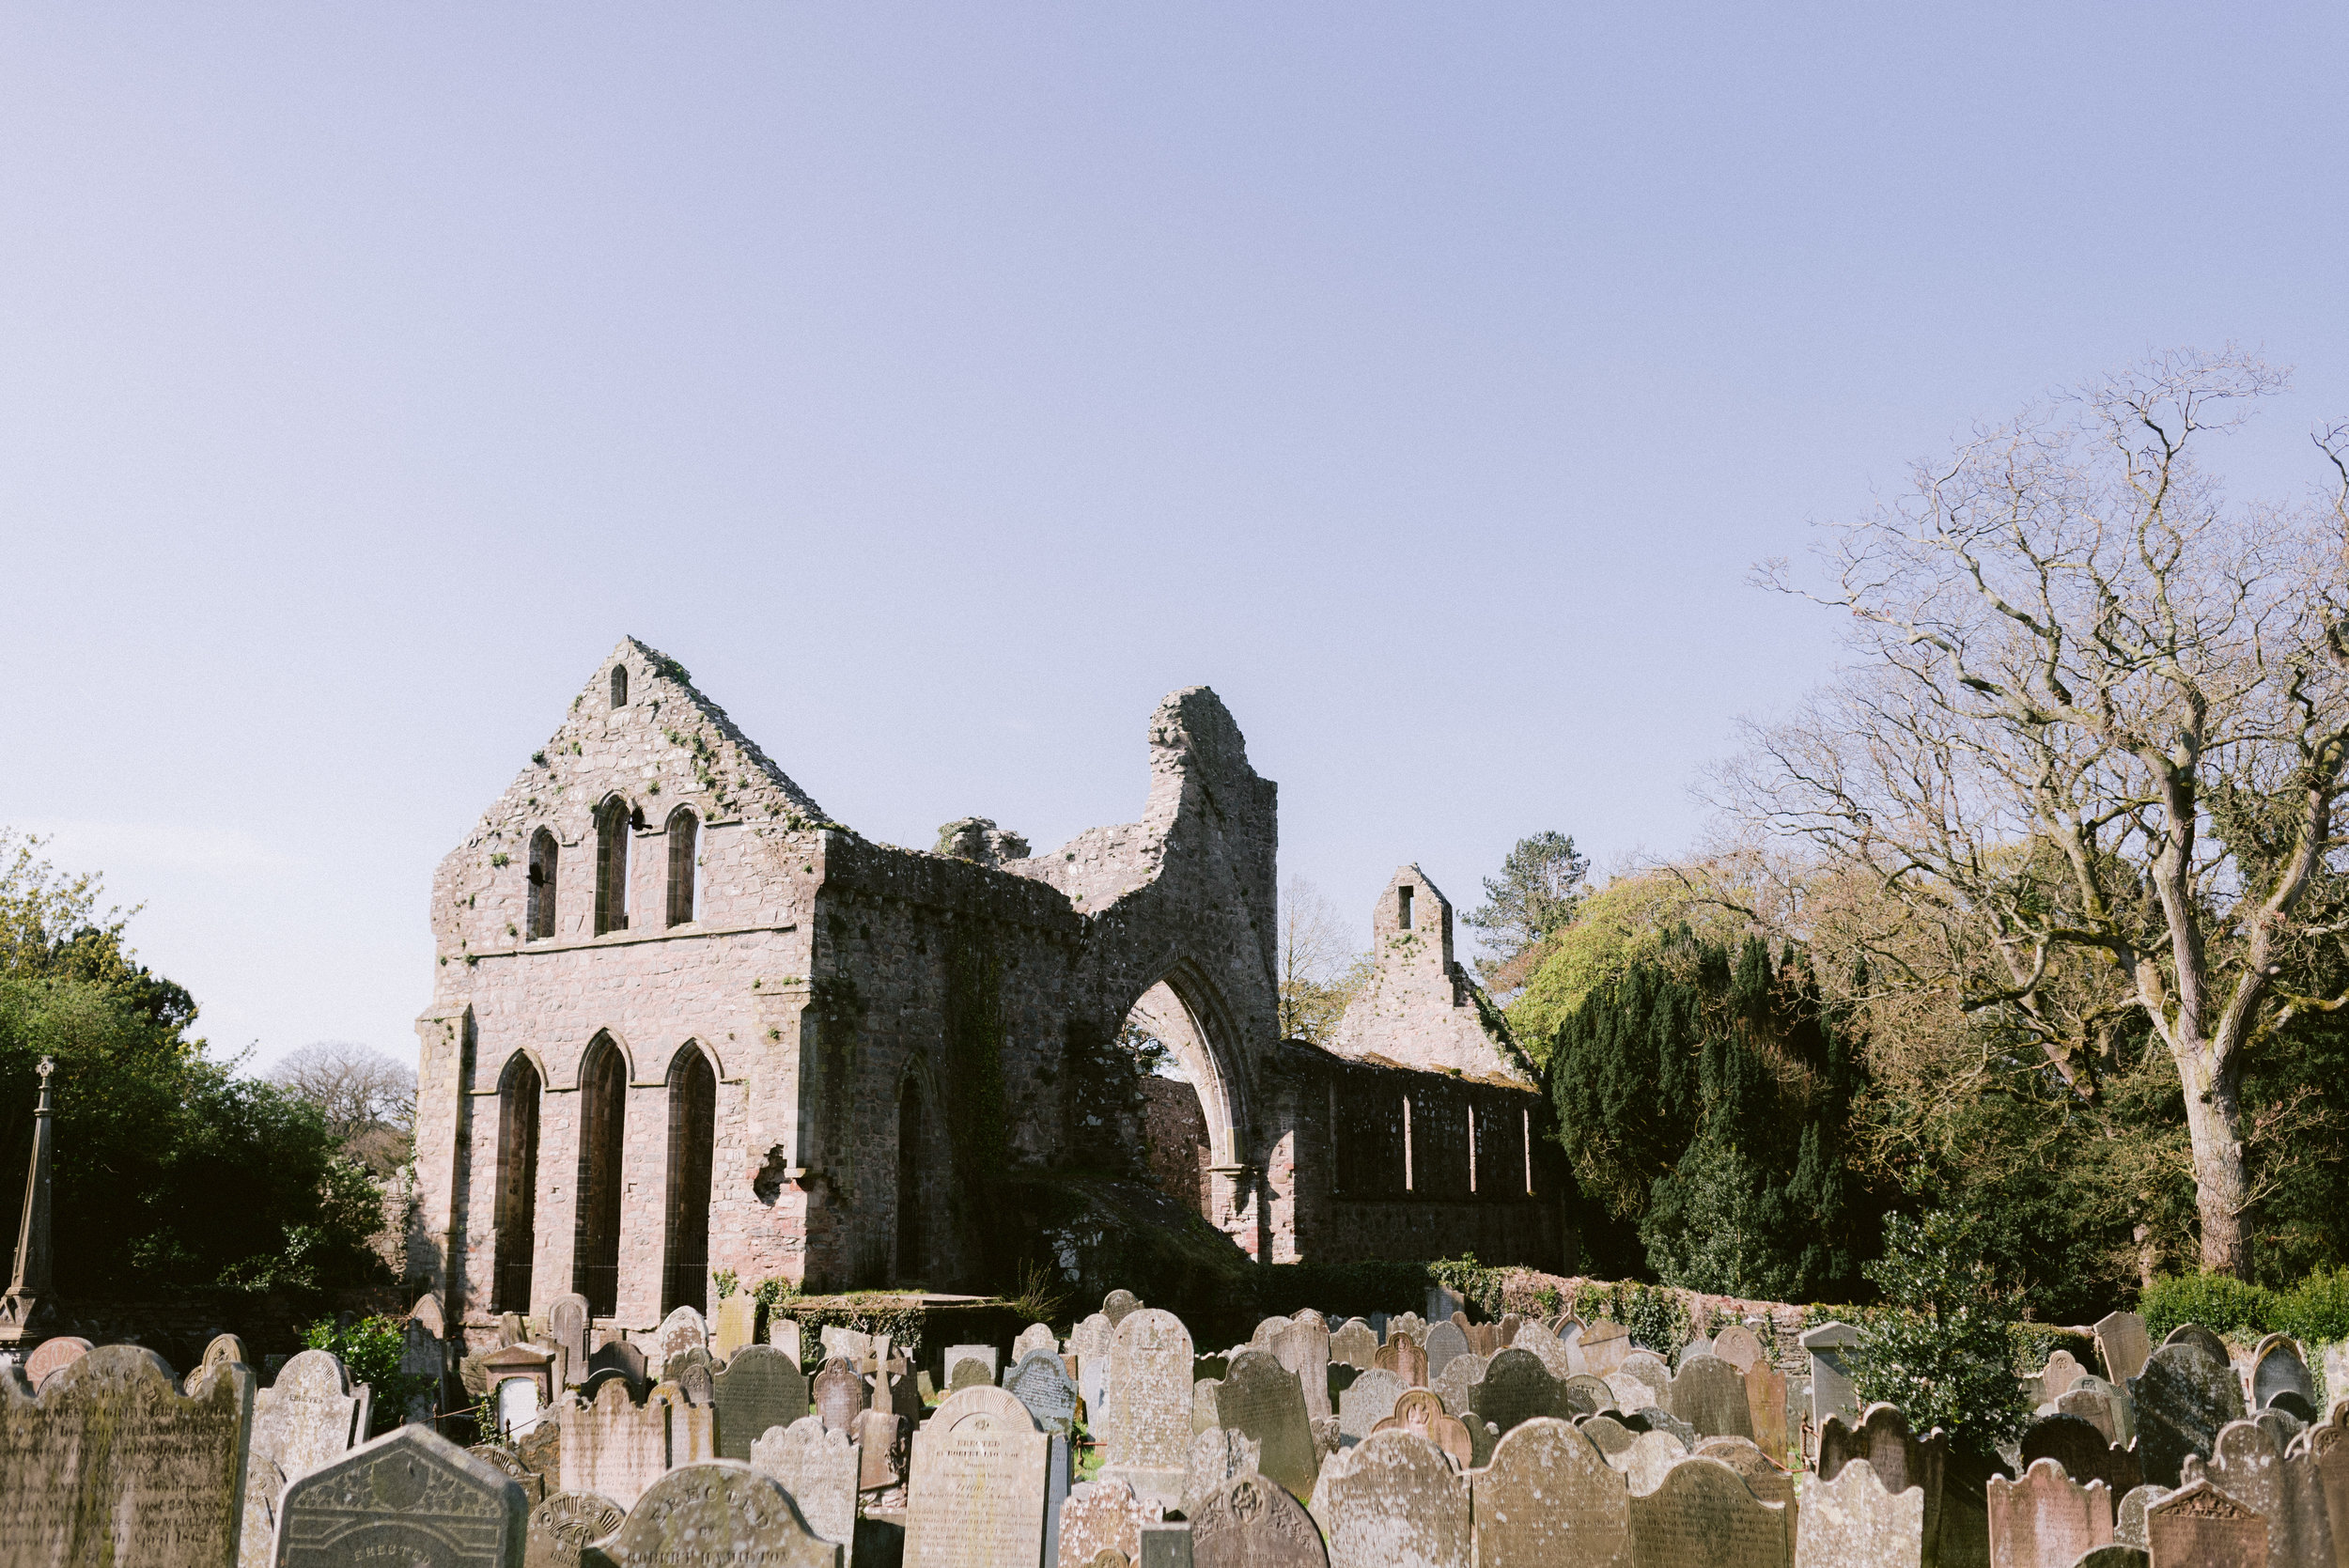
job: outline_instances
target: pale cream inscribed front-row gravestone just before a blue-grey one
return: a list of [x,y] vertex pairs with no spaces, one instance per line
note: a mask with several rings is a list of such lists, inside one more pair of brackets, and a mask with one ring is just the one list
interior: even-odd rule
[[947,1394],[914,1432],[904,1568],[1036,1568],[1050,1458],[1052,1439],[1003,1390]]

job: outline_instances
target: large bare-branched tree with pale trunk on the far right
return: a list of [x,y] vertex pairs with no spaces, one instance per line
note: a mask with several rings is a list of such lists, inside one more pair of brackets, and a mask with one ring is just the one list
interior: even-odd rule
[[2243,1056],[2349,1005],[2309,993],[2349,930],[2349,427],[2316,434],[2321,505],[2229,505],[2194,460],[2279,387],[2175,352],[1919,465],[1820,552],[1858,660],[1724,772],[1748,819],[1893,894],[1893,974],[2072,1094],[2142,1019],[2185,1087],[2203,1268],[2234,1275]]

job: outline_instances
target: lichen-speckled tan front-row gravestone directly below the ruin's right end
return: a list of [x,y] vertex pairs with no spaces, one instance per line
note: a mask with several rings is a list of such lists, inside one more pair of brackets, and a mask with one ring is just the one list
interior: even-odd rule
[[1478,1568],[1630,1568],[1630,1488],[1562,1420],[1503,1434],[1470,1502]]

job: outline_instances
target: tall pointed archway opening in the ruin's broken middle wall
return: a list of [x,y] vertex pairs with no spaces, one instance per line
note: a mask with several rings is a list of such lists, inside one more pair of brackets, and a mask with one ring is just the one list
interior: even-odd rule
[[[1193,1005],[1193,998],[1198,1005]],[[1233,1164],[1233,1077],[1214,1047],[1212,988],[1177,969],[1153,984],[1125,1014],[1120,1045],[1139,1056],[1144,1160],[1151,1181],[1210,1223],[1214,1167]]]

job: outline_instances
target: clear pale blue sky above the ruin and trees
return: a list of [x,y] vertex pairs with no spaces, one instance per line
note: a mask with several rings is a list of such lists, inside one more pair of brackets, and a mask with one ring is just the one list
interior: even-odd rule
[[620,634],[843,822],[1611,859],[1835,657],[1743,584],[2147,347],[2349,413],[2340,7],[14,5],[0,822],[221,1047],[409,1052]]

